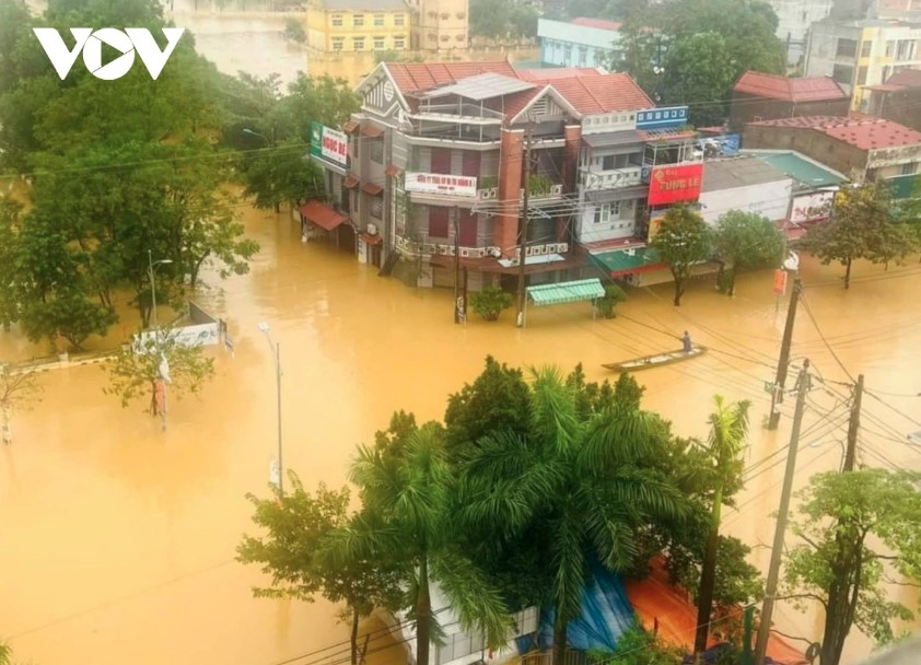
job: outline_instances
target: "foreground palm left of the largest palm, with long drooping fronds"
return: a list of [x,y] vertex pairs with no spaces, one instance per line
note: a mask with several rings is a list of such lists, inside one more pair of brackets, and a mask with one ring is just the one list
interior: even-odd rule
[[441,628],[432,610],[430,584],[438,583],[465,631],[479,630],[491,648],[503,645],[512,620],[499,594],[464,556],[452,518],[456,481],[440,440],[427,424],[412,431],[398,453],[359,446],[350,479],[364,511],[330,538],[326,556],[400,560],[409,570],[407,605],[416,622],[416,660],[429,663],[429,645]]

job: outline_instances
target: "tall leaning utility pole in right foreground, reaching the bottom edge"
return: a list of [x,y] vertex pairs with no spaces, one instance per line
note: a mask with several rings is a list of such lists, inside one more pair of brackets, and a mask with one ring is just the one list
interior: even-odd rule
[[783,490],[780,494],[780,508],[777,515],[774,544],[771,549],[771,563],[768,568],[768,582],[765,586],[765,605],[761,609],[761,623],[758,627],[758,641],[755,645],[755,665],[765,665],[768,652],[768,637],[771,632],[771,616],[774,608],[780,558],[783,553],[783,537],[786,532],[786,514],[790,512],[790,497],[793,493],[793,475],[796,471],[796,451],[800,447],[800,430],[803,427],[803,411],[806,408],[806,393],[809,389],[809,361],[803,361],[800,377],[796,380],[796,410],[793,413],[793,432],[786,451],[786,470],[783,474]]

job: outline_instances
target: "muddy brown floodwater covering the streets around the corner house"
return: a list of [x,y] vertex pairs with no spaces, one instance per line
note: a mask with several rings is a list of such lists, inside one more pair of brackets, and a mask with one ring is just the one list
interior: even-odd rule
[[[335,607],[254,599],[260,574],[233,560],[252,530],[244,494],[268,494],[276,448],[275,369],[261,320],[281,345],[285,466],[308,487],[343,482],[354,445],[395,409],[440,418],[446,395],[478,374],[487,353],[512,364],[582,361],[590,378],[602,380],[601,363],[677,348],[685,329],[712,351],[638,374],[646,406],[677,432],[702,436],[714,393],[748,398],[750,464],[788,442],[792,400],[777,432],[759,427],[785,311],[769,273],[744,277],[735,299],[699,283],[680,308],[669,304],[667,285],[634,292],[614,320],[593,322],[580,304],[534,308],[525,329],[510,312],[497,324],[462,327],[448,292],[409,289],[350,255],[302,245],[284,215],[247,210],[246,224],[263,245],[252,272],[211,279],[198,296],[229,322],[235,354],[212,349],[217,378],[200,399],[172,404],[165,433],[140,405],[121,409],[103,395],[97,365],[44,373],[44,400],[16,415],[15,441],[0,451],[0,631],[19,657],[36,665],[314,665],[347,655],[317,652],[348,638]],[[859,265],[849,292],[839,273],[804,261],[809,311],[852,374],[864,373],[870,390],[921,420],[921,398],[895,396],[921,392],[921,266]],[[0,334],[2,358],[40,351],[15,331]],[[828,386],[846,390],[830,383],[848,378],[805,308],[793,354],[808,355]],[[823,389],[809,396],[797,486],[840,464],[847,415],[836,400]],[[921,425],[876,399],[864,406],[861,458],[921,468],[903,440]],[[726,529],[751,544],[771,541],[780,459],[757,467],[739,510],[725,517]],[[756,555],[763,569],[767,549]],[[815,614],[780,606],[776,618],[784,632],[818,637]],[[854,635],[850,662],[867,651]],[[399,654],[392,648],[372,657],[392,665]]]

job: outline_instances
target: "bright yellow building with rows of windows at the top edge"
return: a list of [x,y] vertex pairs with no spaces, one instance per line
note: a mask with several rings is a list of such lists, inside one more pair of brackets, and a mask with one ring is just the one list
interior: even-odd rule
[[317,0],[307,8],[306,32],[308,66],[311,54],[403,52],[410,10],[403,0]]

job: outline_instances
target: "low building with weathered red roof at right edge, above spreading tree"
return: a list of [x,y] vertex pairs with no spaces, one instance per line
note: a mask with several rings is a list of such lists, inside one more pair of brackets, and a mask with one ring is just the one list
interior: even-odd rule
[[872,117],[811,116],[749,122],[746,148],[796,150],[855,184],[921,172],[921,131]]

